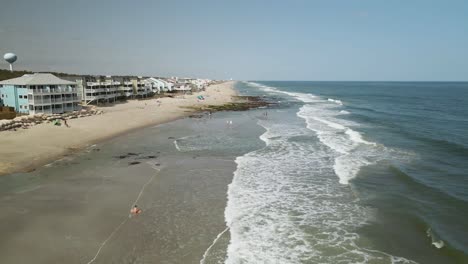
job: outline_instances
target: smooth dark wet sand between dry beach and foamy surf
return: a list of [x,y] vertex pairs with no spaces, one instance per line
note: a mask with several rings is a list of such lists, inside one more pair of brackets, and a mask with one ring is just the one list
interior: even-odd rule
[[[204,140],[238,147],[235,138],[245,136],[237,134],[255,122],[234,119],[239,127],[226,127],[236,116],[242,113],[146,128],[0,177],[0,262],[200,263],[226,229],[227,185],[243,152],[212,150]],[[175,139],[193,135],[202,148],[176,149]],[[129,218],[136,200],[143,213]],[[225,232],[205,263],[222,261],[228,242]]]

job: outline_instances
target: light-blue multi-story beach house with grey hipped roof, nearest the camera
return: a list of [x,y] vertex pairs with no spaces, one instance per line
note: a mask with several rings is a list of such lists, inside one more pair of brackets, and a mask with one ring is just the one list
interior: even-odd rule
[[0,98],[4,105],[23,114],[60,114],[81,109],[76,83],[50,73],[1,81]]

